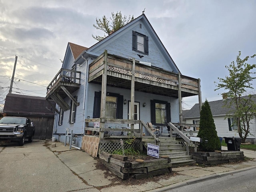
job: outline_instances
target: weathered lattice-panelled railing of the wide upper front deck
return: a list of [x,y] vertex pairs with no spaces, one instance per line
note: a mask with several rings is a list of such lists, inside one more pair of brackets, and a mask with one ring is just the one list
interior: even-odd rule
[[[94,62],[89,66],[89,82],[94,78],[94,76],[99,76],[104,69],[104,53],[101,54]],[[107,55],[107,67],[108,71],[116,72],[120,75],[132,76],[132,61],[113,56],[111,54]],[[154,66],[146,66],[140,62],[135,64],[135,78],[140,78],[141,80],[150,80],[153,82],[158,82],[166,85],[171,85],[178,87],[178,74],[173,72],[168,72],[163,69],[156,68]],[[181,88],[186,88],[189,90],[199,91],[198,79],[191,78],[188,76],[180,76]]]

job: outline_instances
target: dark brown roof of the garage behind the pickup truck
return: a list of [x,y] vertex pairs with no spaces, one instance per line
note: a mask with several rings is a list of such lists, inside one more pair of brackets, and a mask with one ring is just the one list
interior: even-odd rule
[[[53,106],[55,102],[49,100]],[[4,104],[4,113],[54,116],[54,110],[44,97],[8,93]]]

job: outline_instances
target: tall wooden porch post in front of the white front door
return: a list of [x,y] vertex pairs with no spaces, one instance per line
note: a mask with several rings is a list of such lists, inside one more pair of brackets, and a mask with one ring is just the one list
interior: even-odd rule
[[[132,58],[132,80],[131,80],[131,111],[130,120],[134,120],[134,87],[135,87],[135,58]],[[134,124],[131,124],[131,136],[134,136]]]

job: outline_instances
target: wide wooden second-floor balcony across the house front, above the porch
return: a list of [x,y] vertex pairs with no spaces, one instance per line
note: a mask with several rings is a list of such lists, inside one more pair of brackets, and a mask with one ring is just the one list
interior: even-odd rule
[[[88,82],[101,84],[104,73],[105,61],[107,62],[107,86],[131,89],[132,60],[105,53],[100,55],[89,66]],[[135,61],[135,86],[134,90],[178,97],[194,96],[200,92],[200,79],[168,72],[153,66],[146,66]]]

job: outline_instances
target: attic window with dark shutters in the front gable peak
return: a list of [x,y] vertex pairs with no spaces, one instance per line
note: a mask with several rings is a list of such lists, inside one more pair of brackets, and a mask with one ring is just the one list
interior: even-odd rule
[[132,31],[132,50],[148,55],[148,36]]

